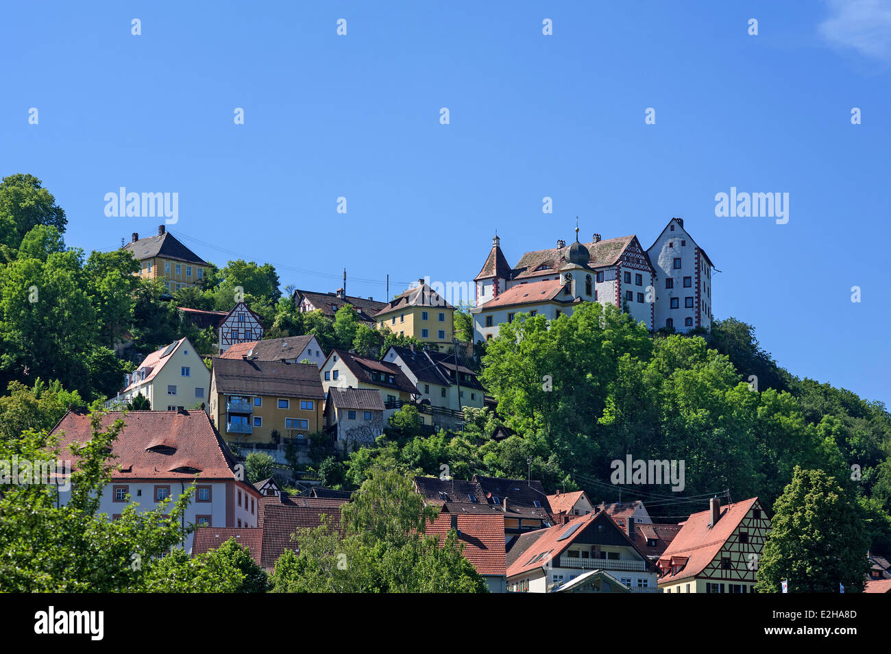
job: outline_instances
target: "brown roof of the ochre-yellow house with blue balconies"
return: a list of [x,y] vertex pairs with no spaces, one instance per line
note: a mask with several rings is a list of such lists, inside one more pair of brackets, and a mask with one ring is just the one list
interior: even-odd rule
[[316,364],[214,357],[217,393],[324,399]]

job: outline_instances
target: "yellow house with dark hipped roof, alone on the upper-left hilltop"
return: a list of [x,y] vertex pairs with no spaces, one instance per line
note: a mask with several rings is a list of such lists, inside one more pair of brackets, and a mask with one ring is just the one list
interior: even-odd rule
[[158,226],[158,235],[133,239],[124,246],[142,264],[139,276],[143,279],[162,279],[164,286],[174,293],[184,286],[200,284],[208,274],[209,264],[191,249],[186,248],[164,225]]

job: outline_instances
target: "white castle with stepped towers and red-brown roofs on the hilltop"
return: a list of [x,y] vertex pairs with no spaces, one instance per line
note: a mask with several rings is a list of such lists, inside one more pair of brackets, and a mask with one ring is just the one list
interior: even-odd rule
[[498,236],[475,278],[476,307],[470,309],[474,340],[492,339],[499,325],[519,313],[555,319],[581,302],[624,309],[650,331],[664,327],[711,329],[712,262],[705,250],[672,218],[650,249],[634,235],[527,252],[510,266]]

